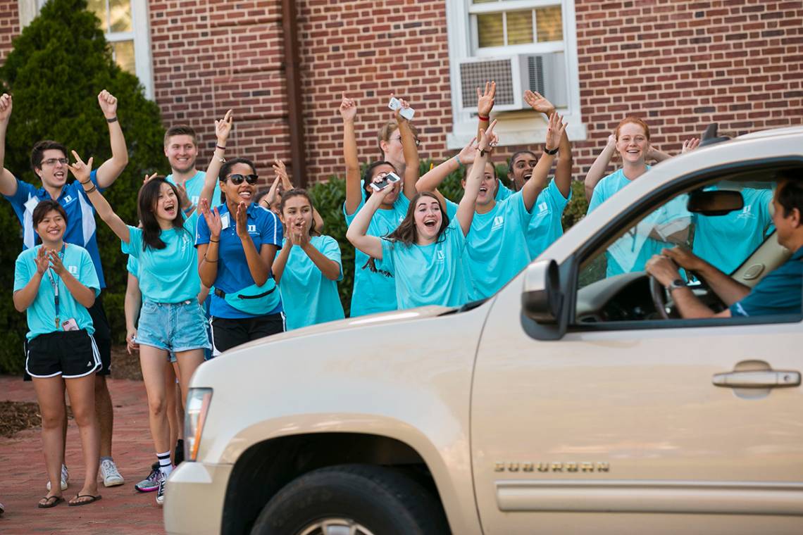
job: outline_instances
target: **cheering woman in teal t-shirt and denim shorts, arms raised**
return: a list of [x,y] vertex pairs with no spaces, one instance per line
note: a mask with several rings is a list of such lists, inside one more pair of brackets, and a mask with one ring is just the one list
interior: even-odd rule
[[[222,121],[216,121],[218,145],[231,128],[230,112]],[[221,136],[225,132],[225,136]],[[160,484],[157,504],[164,501],[164,482],[173,470],[170,462],[169,428],[165,403],[165,363],[169,351],[175,353],[182,395],[186,396],[190,378],[203,362],[203,351],[210,347],[206,322],[198,294],[201,278],[198,276],[198,254],[194,247],[195,225],[198,213],[187,219],[182,213],[179,194],[174,184],[150,176],[140,188],[137,212],[141,228],[126,225],[112,206],[89,180],[92,158],[88,164],[75,151],[75,165],[70,171],[84,186],[84,192],[98,215],[127,245],[128,253],[140,263],[140,290],[142,309],[134,338],[140,345],[140,366],[145,391],[148,395],[151,436],[159,461]],[[206,172],[201,198],[207,201],[214,192],[220,163]]]

